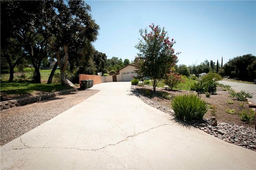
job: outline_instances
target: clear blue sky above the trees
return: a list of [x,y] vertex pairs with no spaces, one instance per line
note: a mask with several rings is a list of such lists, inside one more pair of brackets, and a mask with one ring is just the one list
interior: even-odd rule
[[244,54],[256,55],[256,1],[86,1],[100,26],[96,50],[134,60],[139,30],[151,23],[174,38],[178,64],[213,60],[223,64]]

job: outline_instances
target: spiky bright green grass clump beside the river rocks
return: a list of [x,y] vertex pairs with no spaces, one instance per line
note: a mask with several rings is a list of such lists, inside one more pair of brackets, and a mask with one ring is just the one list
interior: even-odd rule
[[195,94],[184,94],[172,99],[175,117],[180,120],[199,120],[209,109],[206,102]]

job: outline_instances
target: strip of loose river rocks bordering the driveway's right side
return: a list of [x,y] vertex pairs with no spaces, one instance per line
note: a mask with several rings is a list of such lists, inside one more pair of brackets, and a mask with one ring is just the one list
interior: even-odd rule
[[[170,114],[174,118],[174,111],[171,108],[161,105],[160,103],[151,100],[150,98],[140,94],[138,90],[136,90],[136,86],[131,86],[132,92],[140,98],[144,103],[161,110],[167,114]],[[186,121],[181,122],[185,126],[192,126],[198,128],[210,135],[215,136],[220,140],[224,140],[228,143],[236,144],[243,148],[248,148],[250,150],[256,151],[256,130],[250,127],[238,126],[234,124],[228,124],[225,122],[218,122],[217,126],[212,125],[213,119],[203,119],[200,121]]]

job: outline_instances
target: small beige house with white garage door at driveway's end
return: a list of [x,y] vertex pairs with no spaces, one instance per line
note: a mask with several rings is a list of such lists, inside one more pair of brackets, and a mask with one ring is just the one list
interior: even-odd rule
[[127,64],[123,68],[120,68],[116,71],[117,74],[122,76],[122,82],[130,82],[133,77],[137,76],[137,73],[135,72],[137,66],[134,64]]

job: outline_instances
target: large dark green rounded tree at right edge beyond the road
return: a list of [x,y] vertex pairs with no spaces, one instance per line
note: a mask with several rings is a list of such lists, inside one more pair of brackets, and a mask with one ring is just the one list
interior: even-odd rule
[[253,81],[256,79],[256,56],[252,54],[246,54],[243,56],[237,56],[230,59],[222,67],[225,76],[230,76],[230,78],[235,78],[237,80],[243,81]]

